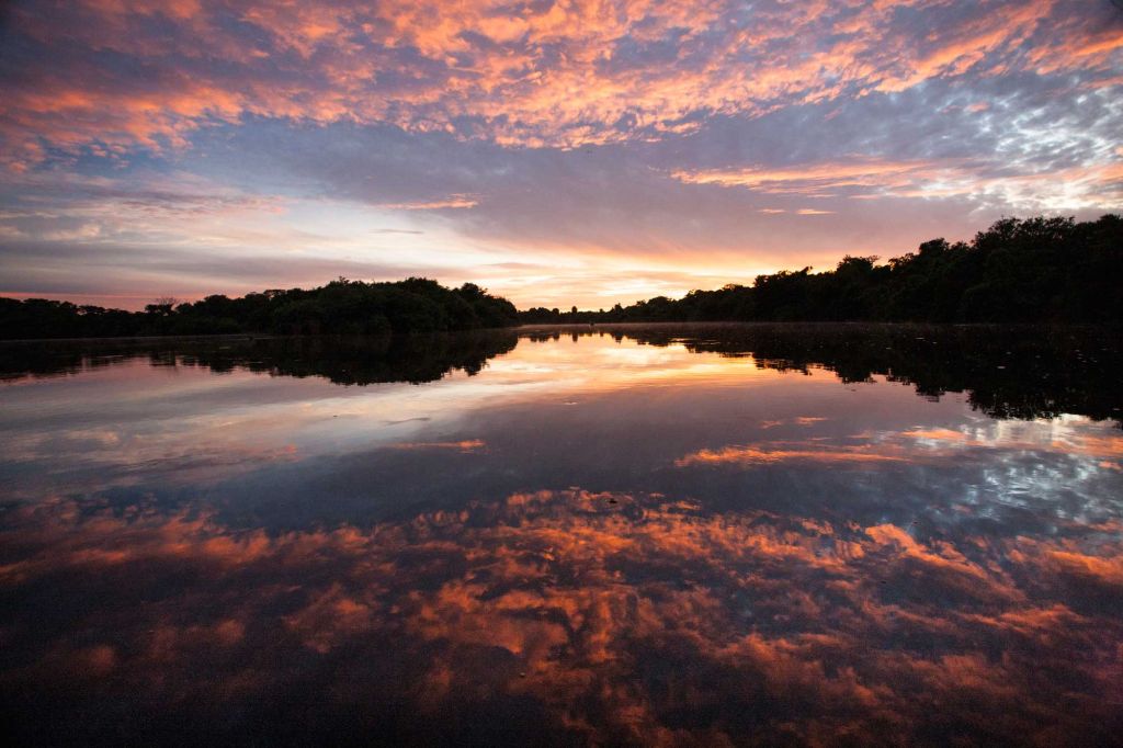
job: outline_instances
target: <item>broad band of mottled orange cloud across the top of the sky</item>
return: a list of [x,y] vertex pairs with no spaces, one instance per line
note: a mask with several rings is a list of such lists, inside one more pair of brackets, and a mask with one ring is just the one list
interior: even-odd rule
[[[822,3],[807,12],[780,3],[755,9],[748,22],[736,3],[686,0],[250,3],[236,11],[208,0],[90,1],[49,19],[17,9],[16,33],[88,51],[93,62],[60,60],[7,85],[6,136],[24,150],[12,163],[34,157],[34,145],[20,144],[39,138],[66,148],[176,146],[193,128],[245,116],[575,147],[690,131],[700,111],[758,116],[968,72],[1102,72],[1120,44],[1117,29],[1095,28],[1054,2],[958,15],[911,3],[934,17],[932,33],[901,26],[898,4]],[[673,58],[643,58],[641,51],[668,43]],[[97,62],[104,51],[131,56],[159,80],[122,81]],[[225,64],[188,72],[177,66],[184,58]]]

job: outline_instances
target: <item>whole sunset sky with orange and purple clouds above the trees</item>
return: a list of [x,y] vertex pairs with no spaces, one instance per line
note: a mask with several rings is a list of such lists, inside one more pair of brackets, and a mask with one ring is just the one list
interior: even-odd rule
[[1123,209],[1113,0],[0,4],[0,294],[608,308]]

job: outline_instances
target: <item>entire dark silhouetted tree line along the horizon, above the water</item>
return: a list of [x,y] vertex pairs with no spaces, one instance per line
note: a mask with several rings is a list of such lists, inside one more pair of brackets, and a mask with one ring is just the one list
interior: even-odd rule
[[758,275],[751,286],[656,297],[604,311],[523,312],[473,283],[339,279],[304,291],[264,291],[141,312],[45,299],[0,298],[0,339],[275,332],[442,332],[518,323],[652,321],[1123,322],[1123,218],[1003,219],[969,243],[925,241],[901,257],[843,257]]

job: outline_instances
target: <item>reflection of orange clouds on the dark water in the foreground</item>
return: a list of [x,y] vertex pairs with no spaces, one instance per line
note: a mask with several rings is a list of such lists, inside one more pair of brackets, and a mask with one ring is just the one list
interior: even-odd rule
[[[72,715],[125,683],[122,703],[161,697],[157,726],[257,724],[296,672],[321,694],[301,711],[313,723],[351,699],[437,724],[512,699],[538,715],[530,736],[592,741],[865,740],[891,724],[1080,742],[1113,727],[1119,606],[1096,601],[1117,598],[1120,548],[1063,529],[952,542],[578,489],[274,536],[70,504],[10,519],[22,540],[0,591],[49,581],[73,604],[35,626],[13,611],[31,659],[6,677],[25,696],[65,685]],[[185,571],[195,582],[170,595]],[[157,589],[159,604],[102,604]]]

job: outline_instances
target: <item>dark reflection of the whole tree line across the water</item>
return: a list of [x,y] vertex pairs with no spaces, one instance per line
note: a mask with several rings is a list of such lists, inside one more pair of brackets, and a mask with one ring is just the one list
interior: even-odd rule
[[[572,336],[612,336],[642,345],[685,346],[699,354],[751,356],[758,367],[807,373],[827,368],[848,384],[884,376],[938,400],[949,392],[994,418],[1111,420],[1123,428],[1123,346],[1110,327],[1004,325],[837,325],[757,322],[615,328],[512,329],[409,336],[258,336],[194,340],[75,340],[0,345],[0,382],[72,375],[148,361],[158,366],[325,377],[336,384],[432,382],[469,376],[515,345]],[[520,339],[523,343],[520,344]]]

